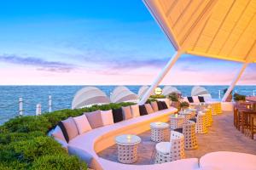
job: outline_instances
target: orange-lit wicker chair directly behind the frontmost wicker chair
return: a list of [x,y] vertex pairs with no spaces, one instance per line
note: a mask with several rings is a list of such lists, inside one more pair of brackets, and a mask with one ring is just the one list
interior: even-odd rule
[[185,150],[195,150],[198,147],[195,137],[195,122],[188,121],[183,124],[183,135]]

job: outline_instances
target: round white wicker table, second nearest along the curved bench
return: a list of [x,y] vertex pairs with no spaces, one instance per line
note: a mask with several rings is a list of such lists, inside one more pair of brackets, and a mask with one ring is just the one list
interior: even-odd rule
[[162,142],[170,140],[169,125],[165,122],[150,123],[151,140],[154,142]]

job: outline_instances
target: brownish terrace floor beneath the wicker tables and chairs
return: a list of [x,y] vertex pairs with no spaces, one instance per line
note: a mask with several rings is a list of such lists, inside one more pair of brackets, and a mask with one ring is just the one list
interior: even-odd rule
[[[224,112],[221,115],[213,116],[212,127],[209,127],[206,134],[196,134],[198,140],[197,150],[185,150],[187,158],[200,158],[208,152],[214,151],[235,151],[256,155],[256,140],[244,136],[233,126],[233,113]],[[150,130],[138,135],[142,143],[138,145],[138,160],[134,164],[154,164],[155,144],[150,140]],[[98,156],[109,161],[117,160],[117,145],[102,150]]]

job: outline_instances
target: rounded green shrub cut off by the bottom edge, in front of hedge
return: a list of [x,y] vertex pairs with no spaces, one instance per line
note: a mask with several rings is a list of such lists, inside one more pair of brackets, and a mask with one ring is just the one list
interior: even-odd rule
[[52,156],[41,156],[36,160],[32,169],[35,170],[86,170],[87,166],[84,162],[79,161],[76,156],[67,156],[67,155],[52,155]]

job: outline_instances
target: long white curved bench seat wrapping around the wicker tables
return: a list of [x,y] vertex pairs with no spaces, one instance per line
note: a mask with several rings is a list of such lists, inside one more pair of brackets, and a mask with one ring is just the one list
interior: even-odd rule
[[[177,109],[171,107],[170,109],[157,111],[154,114],[146,116],[138,116],[130,120],[114,123],[105,127],[98,127],[90,132],[81,134],[69,141],[67,144],[68,151],[71,155],[77,155],[82,159],[88,159],[91,156],[90,167],[94,169],[197,169],[198,159],[184,159],[180,161],[172,161],[159,165],[126,165],[119,162],[108,161],[97,156],[97,153],[115,144],[114,138],[120,134],[132,133],[139,134],[150,129],[150,122],[168,122],[169,116],[175,113]],[[86,158],[87,157],[87,158]]]

